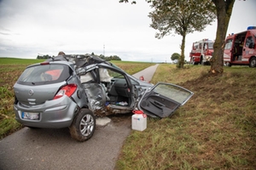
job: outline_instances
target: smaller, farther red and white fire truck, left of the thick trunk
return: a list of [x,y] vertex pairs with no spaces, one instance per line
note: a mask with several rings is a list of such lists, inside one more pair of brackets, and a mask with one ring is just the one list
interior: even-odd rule
[[210,65],[213,53],[213,41],[202,39],[198,42],[193,42],[192,50],[189,53],[190,63],[193,65]]

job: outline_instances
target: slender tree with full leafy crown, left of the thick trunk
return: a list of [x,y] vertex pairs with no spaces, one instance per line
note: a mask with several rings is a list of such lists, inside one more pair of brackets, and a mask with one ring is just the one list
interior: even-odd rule
[[154,11],[149,13],[150,25],[158,30],[155,37],[178,34],[182,36],[179,67],[184,65],[184,48],[187,34],[203,31],[216,18],[211,0],[148,0]]

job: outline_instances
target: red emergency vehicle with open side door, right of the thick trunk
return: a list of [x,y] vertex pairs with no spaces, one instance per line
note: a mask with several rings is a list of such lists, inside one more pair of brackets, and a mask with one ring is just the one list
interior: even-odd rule
[[256,67],[256,26],[248,26],[247,31],[231,34],[226,38],[224,65],[249,65]]

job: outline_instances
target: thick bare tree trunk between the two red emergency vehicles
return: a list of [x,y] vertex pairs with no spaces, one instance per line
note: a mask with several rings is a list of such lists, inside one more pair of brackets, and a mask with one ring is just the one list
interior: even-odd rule
[[213,45],[213,55],[210,73],[221,74],[224,71],[224,45],[226,33],[230,23],[230,16],[235,0],[212,0],[217,9],[217,33]]

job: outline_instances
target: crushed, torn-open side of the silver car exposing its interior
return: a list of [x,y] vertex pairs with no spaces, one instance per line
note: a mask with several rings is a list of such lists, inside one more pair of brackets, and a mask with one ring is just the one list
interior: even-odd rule
[[105,64],[88,65],[77,69],[77,72],[89,107],[96,114],[111,115],[133,110],[134,91],[125,72]]

